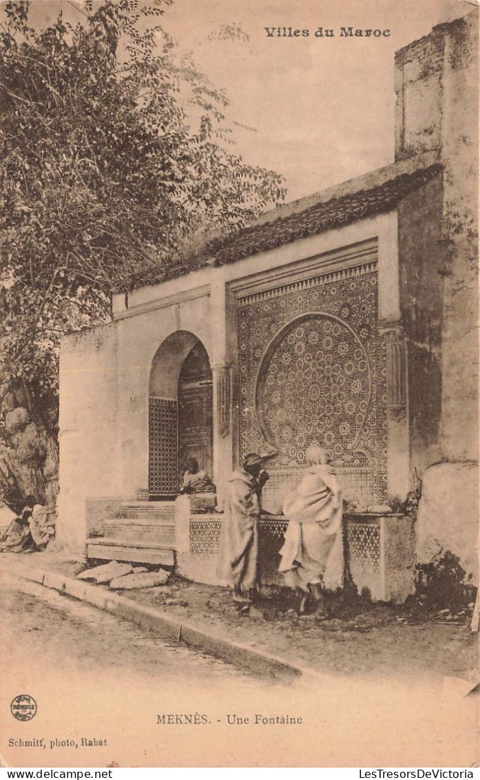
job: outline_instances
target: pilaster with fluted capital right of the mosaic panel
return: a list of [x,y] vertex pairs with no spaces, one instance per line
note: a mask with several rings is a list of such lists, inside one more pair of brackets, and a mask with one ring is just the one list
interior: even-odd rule
[[386,482],[388,495],[406,498],[410,490],[407,348],[401,323],[379,328],[386,348]]

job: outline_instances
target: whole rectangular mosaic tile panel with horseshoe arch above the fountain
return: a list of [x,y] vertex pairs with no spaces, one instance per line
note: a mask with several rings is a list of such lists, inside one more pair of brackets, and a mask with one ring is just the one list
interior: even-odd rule
[[277,512],[330,450],[345,498],[386,498],[386,357],[376,262],[238,297],[240,455],[270,452],[264,505]]

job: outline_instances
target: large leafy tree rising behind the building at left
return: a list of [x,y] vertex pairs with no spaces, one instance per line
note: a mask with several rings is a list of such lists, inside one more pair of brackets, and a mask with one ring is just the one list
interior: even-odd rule
[[[188,263],[203,230],[242,227],[284,197],[281,176],[232,151],[227,97],[158,24],[170,2],[87,0],[82,22],[60,13],[43,30],[29,27],[29,2],[4,6],[0,490],[10,504],[32,490],[55,498],[62,335],[104,321],[113,291]],[[154,20],[146,31],[143,17]]]

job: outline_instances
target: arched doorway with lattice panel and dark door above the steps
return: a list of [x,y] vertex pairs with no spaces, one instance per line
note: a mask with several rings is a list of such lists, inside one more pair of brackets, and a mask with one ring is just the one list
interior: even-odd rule
[[189,457],[211,474],[212,372],[202,342],[190,332],[176,331],[157,349],[150,371],[150,498],[178,494]]

